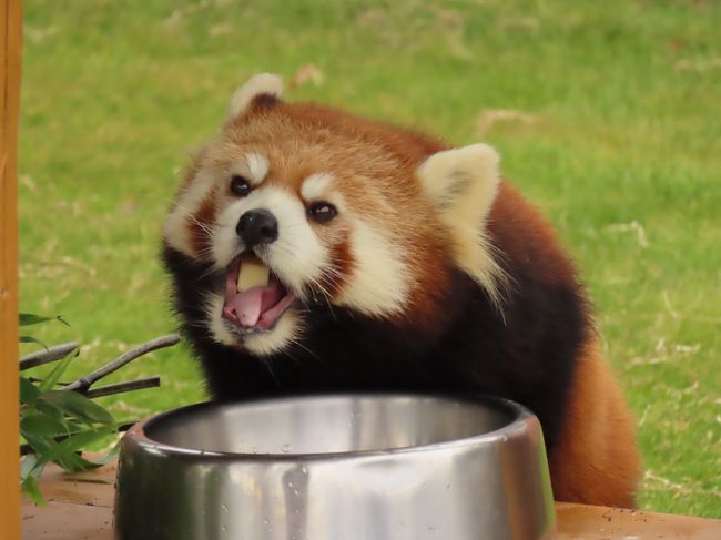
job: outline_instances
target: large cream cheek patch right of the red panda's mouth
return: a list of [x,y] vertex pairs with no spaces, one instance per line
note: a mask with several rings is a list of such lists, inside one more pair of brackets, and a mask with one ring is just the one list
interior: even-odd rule
[[410,275],[390,243],[358,221],[353,228],[351,249],[355,267],[337,303],[372,316],[402,312]]

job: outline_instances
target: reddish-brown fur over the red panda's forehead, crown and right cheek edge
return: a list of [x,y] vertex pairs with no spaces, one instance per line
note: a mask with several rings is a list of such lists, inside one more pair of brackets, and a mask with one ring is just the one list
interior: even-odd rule
[[[415,278],[406,323],[433,320],[437,298],[448,286],[447,235],[420,192],[415,171],[429,154],[446,146],[420,133],[312,103],[267,106],[264,102],[226,129],[230,141],[251,151],[258,147],[267,155],[271,167],[264,183],[268,185],[299,194],[309,174],[327,172],[341,179],[339,192],[353,201],[353,210],[369,216],[386,234],[396,235],[395,244],[405,246],[405,262]],[[357,171],[364,175],[348,174]],[[321,227],[318,234],[331,234],[326,230]],[[435,256],[420,258],[413,249],[417,243]],[[342,261],[349,261],[346,255],[347,248]],[[352,271],[353,264],[339,269]]]

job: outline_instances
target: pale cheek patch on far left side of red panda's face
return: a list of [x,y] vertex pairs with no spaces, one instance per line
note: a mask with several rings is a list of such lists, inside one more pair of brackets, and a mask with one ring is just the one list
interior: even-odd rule
[[201,204],[213,190],[214,179],[200,171],[191,183],[180,193],[173,210],[165,220],[163,237],[171,247],[184,255],[195,257],[189,236],[189,220],[200,210]]

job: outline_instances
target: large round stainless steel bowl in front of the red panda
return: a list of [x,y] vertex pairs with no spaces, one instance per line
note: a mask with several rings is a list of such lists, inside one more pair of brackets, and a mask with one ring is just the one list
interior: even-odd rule
[[540,425],[511,401],[333,395],[202,404],[123,438],[121,540],[537,540]]

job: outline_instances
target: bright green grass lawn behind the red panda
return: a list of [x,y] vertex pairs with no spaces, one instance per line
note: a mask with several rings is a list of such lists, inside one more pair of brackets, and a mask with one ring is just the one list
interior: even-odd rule
[[[435,6],[431,6],[434,3]],[[502,154],[595,300],[640,426],[644,508],[721,517],[721,6],[713,1],[27,0],[21,306],[83,369],[174,324],[158,262],[176,172],[258,71],[313,99]],[[506,120],[477,132],[483,111]],[[80,369],[77,366],[75,369]],[[184,349],[116,378],[204,397]]]

